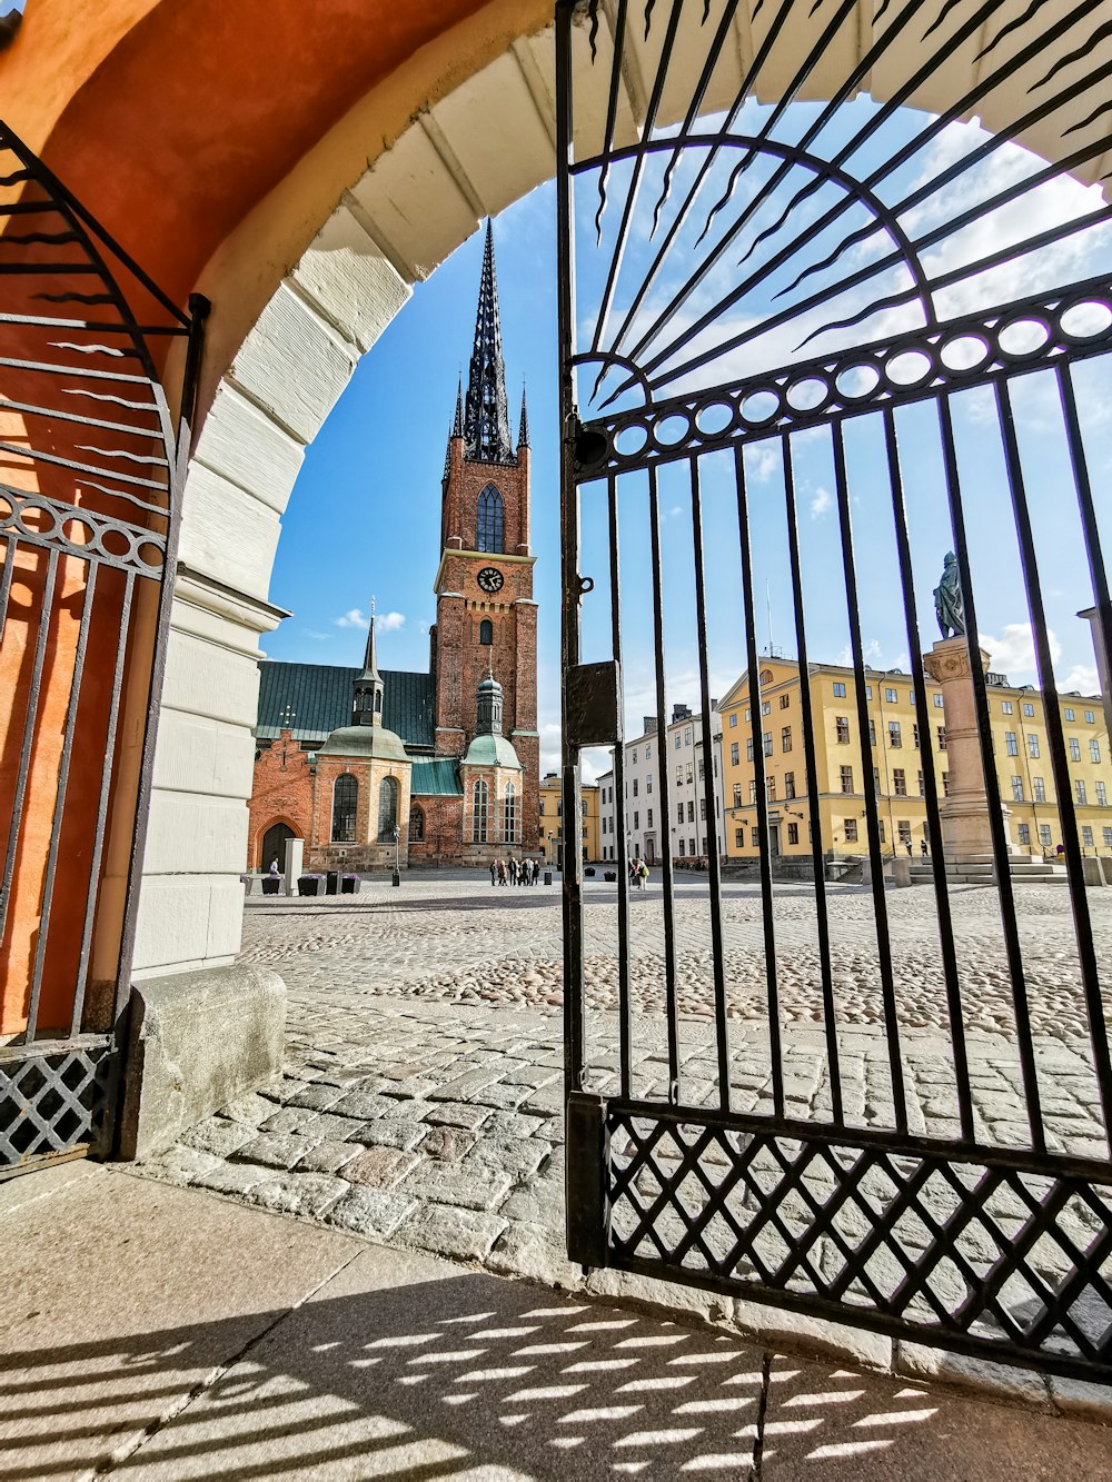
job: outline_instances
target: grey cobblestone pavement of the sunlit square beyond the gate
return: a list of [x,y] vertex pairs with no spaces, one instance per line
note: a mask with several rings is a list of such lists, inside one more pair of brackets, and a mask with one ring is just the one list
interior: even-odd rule
[[[1112,946],[1112,900],[1106,903],[1106,895],[1112,892],[1090,892],[1103,963],[1111,960]],[[587,1018],[592,1083],[599,1091],[614,1086],[617,1071],[614,901],[612,888],[589,888]],[[956,1135],[933,894],[888,892],[887,903],[910,1131]],[[1026,1146],[995,892],[958,888],[952,904],[977,1135]],[[1048,1146],[1103,1157],[1068,894],[1025,886],[1020,910]],[[869,895],[853,888],[832,892],[830,919],[845,1116],[853,1125],[891,1125],[893,1086]],[[686,1106],[718,1097],[709,928],[706,889],[685,886],[676,954]],[[635,1095],[666,1097],[658,889],[635,900],[632,940],[632,1089]],[[724,940],[732,1106],[767,1110],[772,1091],[765,956],[753,888],[728,888]],[[778,895],[775,953],[787,1112],[827,1119],[830,1067],[810,891]],[[350,901],[258,903],[248,910],[243,957],[273,965],[286,981],[285,1076],[274,1088],[245,1097],[194,1128],[145,1165],[150,1177],[477,1261],[494,1272],[581,1285],[581,1272],[569,1266],[562,1248],[557,889],[492,892],[473,879],[442,876],[408,879],[400,895],[372,883]],[[643,1184],[639,1189],[649,1196],[657,1192]],[[952,1192],[939,1197],[940,1220],[952,1214],[947,1197],[952,1200]],[[1002,1190],[993,1209],[1001,1227],[1010,1221],[1014,1227],[1023,1215],[1014,1205],[1014,1194]],[[786,1208],[784,1217],[790,1226],[792,1220],[805,1221],[807,1211]],[[1093,1237],[1093,1211],[1066,1209],[1062,1226],[1085,1248]],[[853,1232],[844,1233],[853,1242]],[[924,1229],[921,1237],[910,1229],[903,1233],[909,1248],[927,1240]],[[1053,1277],[1065,1257],[1054,1240],[1042,1243],[1045,1275]],[[897,1266],[893,1280],[901,1275]],[[612,1273],[590,1277],[598,1289],[611,1292],[608,1280]],[[937,1295],[961,1301],[965,1285],[956,1273],[950,1285],[953,1291]],[[1029,1297],[1026,1288],[1013,1294],[1016,1303]],[[703,1306],[715,1303],[707,1298]]]

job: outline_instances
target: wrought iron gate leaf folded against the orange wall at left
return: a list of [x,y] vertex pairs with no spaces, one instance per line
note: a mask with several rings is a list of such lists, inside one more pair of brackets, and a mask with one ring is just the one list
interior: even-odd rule
[[208,304],[182,314],[3,124],[0,285],[3,1178],[111,1144]]

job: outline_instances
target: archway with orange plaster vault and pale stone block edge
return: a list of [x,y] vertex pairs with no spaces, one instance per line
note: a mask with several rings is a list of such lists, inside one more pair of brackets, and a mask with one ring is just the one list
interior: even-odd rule
[[[356,7],[357,36],[344,31],[357,24],[353,7],[323,0],[310,36],[299,25],[268,33],[283,65],[297,58],[298,96],[288,99],[274,98],[273,79],[258,68],[231,65],[257,39],[243,7],[234,16],[215,0],[194,7],[193,36],[176,9],[169,0],[108,0],[93,31],[65,0],[40,0],[0,59],[12,126],[71,178],[110,228],[123,228],[126,245],[172,292],[197,286],[215,304],[206,415],[182,511],[136,977],[227,963],[239,946],[258,639],[282,617],[267,600],[270,568],[304,448],[412,283],[482,215],[547,179],[555,159],[550,0],[428,0],[403,19],[384,4],[378,25]],[[848,39],[857,36],[863,55],[881,9],[887,4],[860,0],[855,31],[847,27],[842,50],[830,50],[829,77],[824,62],[798,96],[829,96],[830,80],[847,74]],[[921,9],[927,19],[946,6],[927,0]],[[1065,6],[1053,9],[1056,19],[1065,15]],[[737,65],[718,79],[724,96],[768,25],[761,10],[761,0],[737,7]],[[1005,10],[1010,25],[1045,34],[1045,16],[1032,7],[1016,0]],[[598,12],[611,24],[602,0]],[[577,36],[584,56],[589,21],[584,6]],[[784,37],[780,71],[762,74],[762,84],[786,86],[824,24],[814,7],[801,12]],[[984,39],[992,40],[987,19]],[[1065,58],[1069,39],[1056,44]],[[175,47],[187,64],[211,62],[203,107],[197,98],[185,104]],[[684,67],[682,50],[676,65]],[[910,101],[937,111],[968,82],[936,73]],[[1025,84],[1017,76],[1014,86]],[[867,79],[876,99],[891,86],[882,74]],[[636,68],[624,89],[621,126],[648,101]],[[182,101],[181,138],[162,123],[173,111],[168,95]],[[712,90],[704,107],[718,101]],[[1094,101],[1078,92],[1079,120]],[[1005,107],[1002,95],[986,96],[984,126]],[[267,132],[279,113],[298,120],[280,139]],[[157,124],[154,147],[144,133],[148,120]],[[258,167],[224,190],[214,141],[240,150],[248,141]],[[1051,162],[1070,150],[1051,119],[1032,123],[1020,142]],[[144,153],[150,159],[139,167]],[[1108,157],[1094,157],[1082,178],[1102,179],[1108,166]],[[193,243],[191,255],[182,240]],[[182,837],[190,840],[184,857]],[[172,935],[162,929],[168,916]]]

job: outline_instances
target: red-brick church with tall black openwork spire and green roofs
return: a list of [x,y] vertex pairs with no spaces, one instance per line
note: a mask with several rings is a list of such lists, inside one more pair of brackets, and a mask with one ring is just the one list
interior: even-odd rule
[[[249,868],[305,840],[308,868],[485,864],[538,846],[529,425],[506,396],[488,222],[467,391],[440,485],[427,673],[261,665]],[[394,837],[397,830],[397,837]]]

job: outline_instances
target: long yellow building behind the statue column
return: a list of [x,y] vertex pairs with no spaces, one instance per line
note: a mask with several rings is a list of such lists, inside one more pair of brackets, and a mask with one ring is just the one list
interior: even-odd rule
[[[912,677],[900,670],[866,670],[867,763],[861,759],[857,689],[851,668],[811,664],[808,676],[815,734],[818,817],[824,851],[864,854],[864,772],[873,769],[881,846],[913,857],[928,843],[924,766],[930,762],[943,797],[947,787],[946,725],[941,689],[927,680],[930,735],[919,735]],[[992,745],[1008,833],[1019,849],[1054,854],[1062,842],[1057,793],[1050,765],[1045,705],[1039,691],[987,676]],[[804,748],[799,665],[767,658],[759,671],[758,735],[765,759],[768,827],[777,855],[811,851],[810,797]],[[1069,753],[1078,828],[1085,854],[1112,854],[1112,759],[1100,697],[1059,700]],[[722,700],[722,784],[725,852],[759,852],[753,728],[749,674]]]

